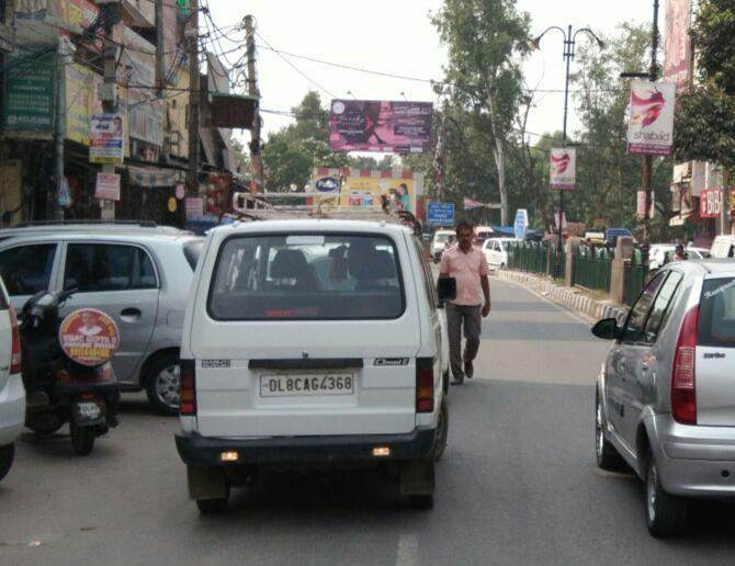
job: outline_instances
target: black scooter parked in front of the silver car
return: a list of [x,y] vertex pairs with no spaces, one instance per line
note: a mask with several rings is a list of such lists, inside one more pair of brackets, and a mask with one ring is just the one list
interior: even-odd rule
[[48,437],[69,423],[74,451],[92,452],[98,437],[118,423],[120,388],[110,362],[88,366],[64,353],[59,308],[76,290],[31,297],[20,315],[25,426]]

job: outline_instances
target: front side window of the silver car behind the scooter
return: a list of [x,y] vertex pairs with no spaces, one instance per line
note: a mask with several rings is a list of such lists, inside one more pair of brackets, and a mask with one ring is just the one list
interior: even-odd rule
[[22,246],[0,252],[0,275],[11,296],[46,291],[54,269],[55,244]]

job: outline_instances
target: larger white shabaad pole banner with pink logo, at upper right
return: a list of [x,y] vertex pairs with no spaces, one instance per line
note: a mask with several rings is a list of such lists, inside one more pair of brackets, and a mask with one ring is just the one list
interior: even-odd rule
[[627,152],[637,156],[668,156],[674,146],[676,84],[634,80],[631,84],[631,116]]

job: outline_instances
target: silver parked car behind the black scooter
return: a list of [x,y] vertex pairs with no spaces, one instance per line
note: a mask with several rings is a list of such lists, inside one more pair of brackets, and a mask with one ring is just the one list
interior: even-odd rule
[[203,244],[158,228],[47,230],[0,241],[0,274],[16,310],[39,291],[79,291],[60,315],[81,307],[113,317],[121,347],[113,360],[122,390],[146,389],[154,407],[179,406],[179,347],[189,288]]

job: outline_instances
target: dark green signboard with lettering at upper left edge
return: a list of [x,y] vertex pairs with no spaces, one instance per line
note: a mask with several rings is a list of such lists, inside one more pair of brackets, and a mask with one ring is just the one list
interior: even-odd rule
[[56,56],[5,55],[2,124],[5,132],[54,132]]

